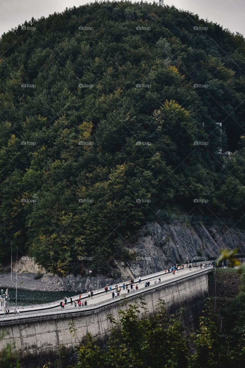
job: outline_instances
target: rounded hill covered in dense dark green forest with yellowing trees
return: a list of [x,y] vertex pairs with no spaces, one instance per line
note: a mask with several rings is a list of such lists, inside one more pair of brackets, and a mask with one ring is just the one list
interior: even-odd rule
[[4,33],[1,263],[12,243],[49,272],[108,274],[146,221],[244,216],[244,42],[129,1]]

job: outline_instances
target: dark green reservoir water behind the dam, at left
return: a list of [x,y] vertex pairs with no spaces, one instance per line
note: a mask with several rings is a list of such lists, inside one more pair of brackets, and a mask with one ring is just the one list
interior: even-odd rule
[[[8,288],[8,293],[9,305],[15,305],[15,289]],[[67,291],[31,291],[17,289],[17,306],[49,303],[64,299],[64,297],[74,296],[75,294],[77,293],[74,291],[69,293]]]

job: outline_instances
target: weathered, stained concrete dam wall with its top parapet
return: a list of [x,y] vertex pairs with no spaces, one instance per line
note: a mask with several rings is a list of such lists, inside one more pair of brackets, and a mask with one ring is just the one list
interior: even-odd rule
[[[8,343],[15,344],[15,351],[25,367],[43,366],[48,361],[59,360],[60,350],[74,351],[87,332],[96,339],[105,341],[111,324],[108,315],[118,320],[118,311],[127,310],[129,304],[146,303],[149,314],[156,311],[159,299],[163,300],[170,314],[182,310],[185,328],[191,331],[198,323],[203,310],[203,301],[208,296],[208,273],[213,268],[186,270],[160,283],[144,287],[133,293],[111,298],[87,307],[49,309],[39,312],[8,315],[0,318],[0,350]],[[180,275],[181,273],[181,275]],[[169,276],[170,276],[169,275]],[[140,299],[141,298],[141,299]],[[143,309],[142,309],[143,312]],[[70,333],[71,323],[76,334]]]

